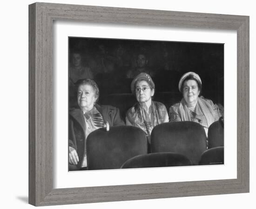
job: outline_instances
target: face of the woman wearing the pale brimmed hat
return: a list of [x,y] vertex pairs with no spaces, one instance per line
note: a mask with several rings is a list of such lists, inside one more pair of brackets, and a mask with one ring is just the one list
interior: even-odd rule
[[183,84],[183,98],[186,103],[195,104],[197,102],[200,91],[195,80],[187,80]]

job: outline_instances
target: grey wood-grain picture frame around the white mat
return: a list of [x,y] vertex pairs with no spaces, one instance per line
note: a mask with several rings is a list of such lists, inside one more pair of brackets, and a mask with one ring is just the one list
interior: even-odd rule
[[[54,20],[237,31],[237,178],[53,189]],[[242,111],[243,110],[243,111]],[[29,5],[29,203],[35,206],[249,192],[249,17],[115,7]]]

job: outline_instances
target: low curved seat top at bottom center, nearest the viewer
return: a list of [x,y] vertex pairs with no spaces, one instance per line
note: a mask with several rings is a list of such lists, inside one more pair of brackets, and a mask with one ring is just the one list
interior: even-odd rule
[[172,152],[158,152],[135,156],[126,161],[121,168],[152,168],[168,166],[192,165],[191,161],[184,155]]

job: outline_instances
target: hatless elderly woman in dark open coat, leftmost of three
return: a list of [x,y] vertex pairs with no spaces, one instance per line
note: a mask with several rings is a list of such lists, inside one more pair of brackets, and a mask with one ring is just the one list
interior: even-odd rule
[[116,107],[96,103],[99,94],[98,85],[92,79],[84,79],[78,84],[79,109],[69,113],[69,170],[87,170],[85,145],[92,131],[108,125],[125,125]]

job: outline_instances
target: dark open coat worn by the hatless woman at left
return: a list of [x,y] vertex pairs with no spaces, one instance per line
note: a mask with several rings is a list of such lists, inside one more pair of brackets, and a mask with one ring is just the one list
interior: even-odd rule
[[[99,104],[95,104],[95,107],[101,113],[104,123],[108,122],[109,126],[125,125],[120,118],[118,108]],[[76,150],[79,157],[77,167],[80,168],[85,147],[85,120],[81,109],[74,109],[69,113],[68,146]]]

